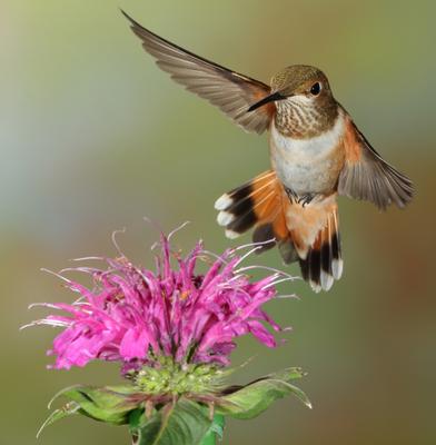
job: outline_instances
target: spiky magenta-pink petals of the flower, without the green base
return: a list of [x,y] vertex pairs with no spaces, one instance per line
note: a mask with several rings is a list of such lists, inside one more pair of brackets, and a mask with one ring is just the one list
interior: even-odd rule
[[[255,266],[240,267],[249,254],[239,257],[241,248],[212,257],[198,243],[182,258],[171,251],[164,235],[160,247],[156,271],[136,267],[121,256],[95,258],[106,263],[105,269],[76,269],[91,275],[92,288],[60,276],[80,298],[71,305],[42,304],[67,315],[49,315],[31,324],[63,328],[49,352],[56,355],[51,367],[119,360],[126,373],[161,356],[181,364],[228,365],[235,338],[246,334],[276,346],[267,326],[281,329],[261,306],[275,297],[275,284],[290,277],[274,270],[266,278],[250,280],[245,270]],[[196,273],[199,259],[209,265],[205,274]]]

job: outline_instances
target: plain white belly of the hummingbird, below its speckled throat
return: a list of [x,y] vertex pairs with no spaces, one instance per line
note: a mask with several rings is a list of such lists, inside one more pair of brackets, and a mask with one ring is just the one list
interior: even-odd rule
[[297,139],[280,134],[271,125],[270,158],[277,177],[298,196],[334,191],[344,165],[344,117],[324,134]]

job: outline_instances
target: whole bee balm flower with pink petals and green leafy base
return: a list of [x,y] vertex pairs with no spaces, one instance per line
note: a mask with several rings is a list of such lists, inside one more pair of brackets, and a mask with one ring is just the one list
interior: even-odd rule
[[[169,238],[160,238],[153,271],[120,254],[118,258],[92,257],[103,261],[101,269],[72,269],[89,274],[91,287],[54,274],[80,297],[72,304],[42,304],[63,315],[31,324],[63,329],[49,352],[56,356],[50,367],[116,360],[130,382],[63,389],[58,395],[68,403],[50,414],[40,432],[79,413],[111,425],[129,425],[133,444],[206,445],[222,435],[227,416],[256,417],[290,394],[310,407],[306,395],[293,385],[304,375],[300,368],[242,386],[225,384],[235,338],[251,334],[264,345],[276,346],[271,330],[281,328],[262,305],[276,296],[277,283],[291,277],[270,268],[258,280],[247,275],[260,266],[240,264],[261,245],[242,256],[239,251],[250,246],[216,256],[198,243],[182,257],[171,249]],[[206,271],[198,268],[200,259],[207,264]]]

